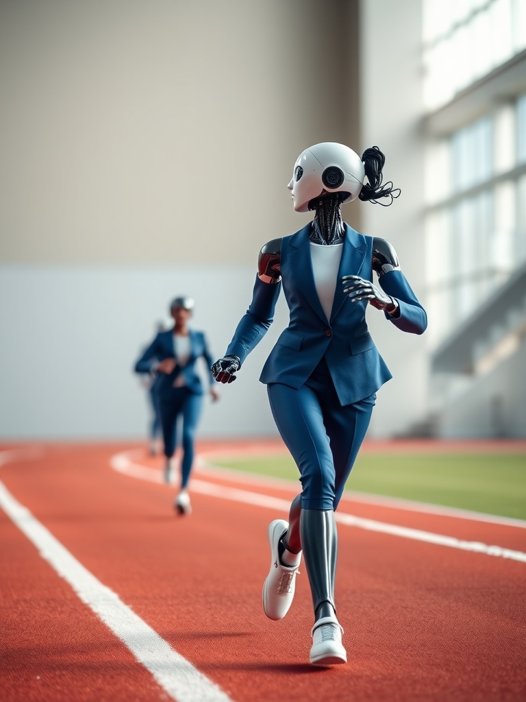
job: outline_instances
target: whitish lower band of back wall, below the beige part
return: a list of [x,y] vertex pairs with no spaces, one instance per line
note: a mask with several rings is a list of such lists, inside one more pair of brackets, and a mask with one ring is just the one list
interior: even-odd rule
[[[170,300],[181,294],[195,298],[192,324],[205,331],[212,354],[220,357],[250,303],[254,280],[251,267],[226,272],[189,266],[0,267],[0,437],[147,435],[147,393],[132,369],[153,338],[156,322],[168,317]],[[236,382],[217,386],[222,395],[217,404],[207,399],[201,437],[277,435],[267,391],[258,378],[287,323],[282,295],[274,324]],[[389,332],[399,335],[394,328]],[[389,353],[389,345],[380,351],[396,378],[404,359]],[[377,428],[385,435],[392,425],[386,416],[389,403],[382,402],[385,392],[379,391],[372,435]],[[396,395],[404,415],[411,397],[400,388]]]

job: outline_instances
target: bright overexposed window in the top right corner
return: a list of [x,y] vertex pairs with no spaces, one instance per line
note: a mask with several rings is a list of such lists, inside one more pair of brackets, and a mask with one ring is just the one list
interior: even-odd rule
[[427,110],[526,48],[525,0],[423,0],[423,16]]

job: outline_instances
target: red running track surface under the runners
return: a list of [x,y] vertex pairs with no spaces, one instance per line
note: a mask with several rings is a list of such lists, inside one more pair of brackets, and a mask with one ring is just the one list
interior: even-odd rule
[[[20,451],[0,468],[0,481],[226,698],[526,699],[526,562],[340,524],[337,604],[349,663],[314,668],[304,569],[285,619],[269,621],[261,607],[267,525],[285,512],[194,491],[193,514],[177,517],[173,487],[110,468],[112,456],[130,448]],[[133,455],[160,474],[160,458]],[[208,472],[196,471],[195,482],[286,502],[295,495],[288,484],[250,485]],[[339,511],[526,552],[520,527],[352,501]],[[169,700],[1,510],[0,529],[1,700]],[[202,702],[195,694],[188,699]]]

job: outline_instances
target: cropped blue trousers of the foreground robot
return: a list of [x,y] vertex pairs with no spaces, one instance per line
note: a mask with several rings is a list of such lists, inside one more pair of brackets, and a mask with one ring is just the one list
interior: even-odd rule
[[299,469],[302,508],[335,510],[376,395],[342,407],[325,359],[299,390],[270,383],[267,392],[278,431]]

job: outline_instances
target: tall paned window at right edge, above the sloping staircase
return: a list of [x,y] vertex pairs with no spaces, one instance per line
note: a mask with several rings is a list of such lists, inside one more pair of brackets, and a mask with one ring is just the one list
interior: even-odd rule
[[430,143],[426,161],[436,344],[526,260],[526,96]]

